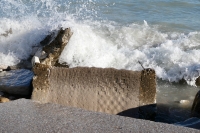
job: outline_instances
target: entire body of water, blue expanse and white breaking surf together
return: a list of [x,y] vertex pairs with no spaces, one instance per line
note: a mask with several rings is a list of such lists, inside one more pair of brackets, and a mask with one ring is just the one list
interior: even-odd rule
[[61,63],[142,70],[140,61],[155,69],[157,102],[167,105],[191,104],[199,90],[199,0],[1,0],[0,65],[28,58],[59,27],[73,31]]

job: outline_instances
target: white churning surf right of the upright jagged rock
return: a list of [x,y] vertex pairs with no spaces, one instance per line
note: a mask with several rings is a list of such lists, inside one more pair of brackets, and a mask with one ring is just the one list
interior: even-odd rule
[[60,62],[70,67],[114,67],[156,70],[157,76],[170,82],[185,79],[195,85],[199,76],[200,32],[162,33],[156,26],[96,23],[77,24]]

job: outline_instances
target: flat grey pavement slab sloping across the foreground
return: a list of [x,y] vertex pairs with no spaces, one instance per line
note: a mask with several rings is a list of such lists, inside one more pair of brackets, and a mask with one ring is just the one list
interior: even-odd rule
[[57,104],[20,99],[0,104],[0,132],[23,133],[199,133],[163,123],[85,111]]

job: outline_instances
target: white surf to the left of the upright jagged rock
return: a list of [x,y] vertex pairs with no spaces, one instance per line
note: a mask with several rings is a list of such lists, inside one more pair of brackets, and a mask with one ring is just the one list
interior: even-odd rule
[[44,37],[42,35],[45,32],[40,29],[41,23],[34,17],[30,18],[22,21],[1,19],[0,65],[14,65],[22,59],[27,59],[32,46]]

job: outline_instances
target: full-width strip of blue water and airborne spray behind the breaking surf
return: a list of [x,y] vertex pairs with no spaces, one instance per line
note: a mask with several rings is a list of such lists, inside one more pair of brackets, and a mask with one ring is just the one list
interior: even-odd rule
[[92,18],[121,24],[146,20],[173,31],[200,30],[199,0],[2,0],[0,7],[1,18],[36,15],[50,19],[64,13],[76,19]]

